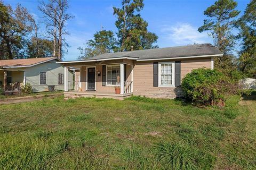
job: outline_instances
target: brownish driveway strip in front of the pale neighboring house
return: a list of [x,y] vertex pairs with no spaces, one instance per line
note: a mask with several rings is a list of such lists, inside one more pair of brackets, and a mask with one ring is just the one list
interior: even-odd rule
[[44,97],[55,98],[55,97],[62,96],[62,95],[63,95],[63,93],[5,98],[5,99],[0,99],[0,105],[7,105],[7,104],[22,103],[22,102],[30,102],[30,101],[35,101],[35,100],[42,100]]

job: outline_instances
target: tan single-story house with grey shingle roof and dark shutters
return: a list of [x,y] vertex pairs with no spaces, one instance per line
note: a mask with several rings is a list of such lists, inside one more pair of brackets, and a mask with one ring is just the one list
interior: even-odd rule
[[[152,98],[181,96],[180,84],[193,69],[213,69],[213,57],[222,56],[211,44],[155,48],[101,54],[83,61],[57,62],[80,69],[81,91],[69,91],[65,97],[108,97],[124,99],[131,95]],[[67,72],[67,71],[66,71]],[[66,75],[65,75],[66,77]],[[117,84],[117,78],[120,84]],[[65,79],[65,84],[68,82]],[[115,94],[115,86],[121,94]]]

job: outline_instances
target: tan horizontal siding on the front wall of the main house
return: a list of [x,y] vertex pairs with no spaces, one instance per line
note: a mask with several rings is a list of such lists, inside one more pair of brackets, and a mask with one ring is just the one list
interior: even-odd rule
[[[173,61],[173,60],[170,60]],[[179,60],[180,61],[180,60]],[[121,62],[121,61],[118,61]],[[127,64],[133,64],[133,95],[145,96],[150,98],[175,98],[182,95],[180,88],[175,87],[153,87],[153,62],[131,62],[123,61]],[[158,61],[161,62],[161,61]],[[164,61],[167,62],[167,61]],[[103,63],[103,64],[110,64]],[[96,91],[114,93],[114,86],[102,86],[102,65],[91,65],[96,67]],[[191,72],[193,69],[198,69],[200,67],[211,68],[211,58],[195,58],[193,60],[181,60],[181,81],[185,75]],[[131,76],[131,66],[126,67],[126,78],[127,81],[132,80]],[[82,91],[86,91],[86,66],[81,67],[81,87]],[[101,73],[98,77],[97,72]]]

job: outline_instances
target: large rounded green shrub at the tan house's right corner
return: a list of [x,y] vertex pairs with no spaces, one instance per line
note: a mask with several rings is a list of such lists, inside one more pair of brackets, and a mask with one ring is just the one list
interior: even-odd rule
[[225,104],[226,97],[238,92],[238,83],[221,72],[211,69],[196,69],[182,80],[186,99],[197,105]]

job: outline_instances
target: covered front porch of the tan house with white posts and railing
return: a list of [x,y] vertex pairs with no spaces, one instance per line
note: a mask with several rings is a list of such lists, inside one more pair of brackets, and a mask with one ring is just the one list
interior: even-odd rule
[[[66,99],[97,97],[123,100],[133,94],[133,61],[81,61],[64,65],[64,96]],[[79,69],[78,75],[75,75],[74,90],[68,88],[67,72],[70,68]],[[116,94],[115,87],[120,88],[120,94]]]

